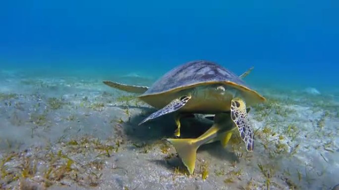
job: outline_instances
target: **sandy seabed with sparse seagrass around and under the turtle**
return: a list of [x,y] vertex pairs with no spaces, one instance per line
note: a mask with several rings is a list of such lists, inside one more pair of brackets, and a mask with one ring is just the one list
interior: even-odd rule
[[[106,79],[112,78],[0,72],[0,189],[330,190],[339,184],[339,94],[257,89],[267,101],[249,113],[254,152],[235,133],[226,149],[219,142],[202,146],[189,176],[164,141],[173,138],[172,115],[138,126],[155,109],[106,86]],[[210,126],[194,118],[181,124],[180,138]]]

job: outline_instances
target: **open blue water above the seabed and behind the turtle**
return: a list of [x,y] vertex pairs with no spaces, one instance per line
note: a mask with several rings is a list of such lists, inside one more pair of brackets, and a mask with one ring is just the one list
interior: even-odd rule
[[215,61],[250,83],[338,87],[337,0],[2,0],[0,64],[53,76]]

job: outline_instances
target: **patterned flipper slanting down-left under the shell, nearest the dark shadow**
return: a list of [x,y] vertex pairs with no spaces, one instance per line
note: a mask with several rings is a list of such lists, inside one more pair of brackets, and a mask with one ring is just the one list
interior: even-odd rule
[[[165,114],[169,114],[172,112],[175,112],[177,110],[179,110],[181,107],[185,106],[185,104],[188,102],[188,100],[191,99],[191,96],[182,96],[178,99],[174,99],[173,101],[171,101],[167,106],[165,106],[163,109],[158,110],[157,112],[151,114],[150,116],[148,116],[147,118],[145,118],[143,121],[141,121],[139,123],[139,125],[141,125],[142,123],[157,118],[161,115],[165,115]],[[180,122],[179,122],[180,124]]]

